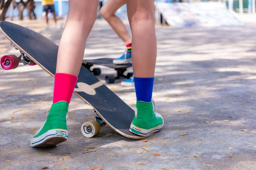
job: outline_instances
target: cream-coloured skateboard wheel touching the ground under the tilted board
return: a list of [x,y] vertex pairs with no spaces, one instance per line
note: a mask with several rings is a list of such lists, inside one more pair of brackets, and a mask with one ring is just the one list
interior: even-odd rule
[[81,126],[81,132],[87,138],[91,138],[91,137],[99,134],[99,131],[100,131],[100,125],[96,120],[91,120],[89,122],[85,122]]

